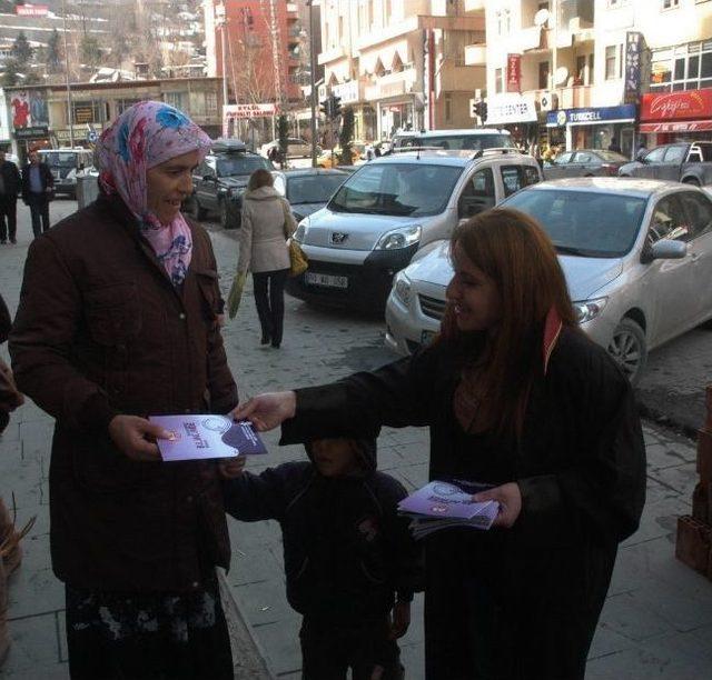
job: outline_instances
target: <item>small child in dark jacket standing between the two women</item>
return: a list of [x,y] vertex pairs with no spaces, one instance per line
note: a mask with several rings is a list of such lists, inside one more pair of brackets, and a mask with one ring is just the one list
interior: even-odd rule
[[287,599],[303,614],[304,680],[400,680],[396,639],[411,622],[422,558],[397,514],[407,496],[376,471],[374,439],[305,444],[288,462],[225,483],[225,508],[244,521],[281,526]]

